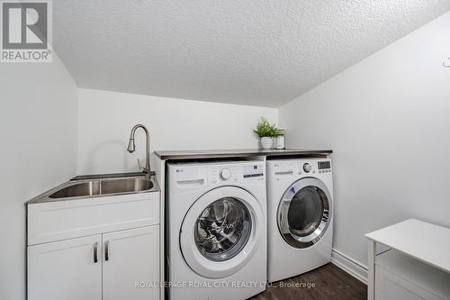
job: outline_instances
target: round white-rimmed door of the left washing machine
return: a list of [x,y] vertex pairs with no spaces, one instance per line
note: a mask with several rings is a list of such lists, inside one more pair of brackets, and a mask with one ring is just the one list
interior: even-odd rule
[[200,276],[229,277],[253,258],[263,224],[262,207],[253,195],[237,186],[220,186],[189,208],[181,225],[180,250]]

